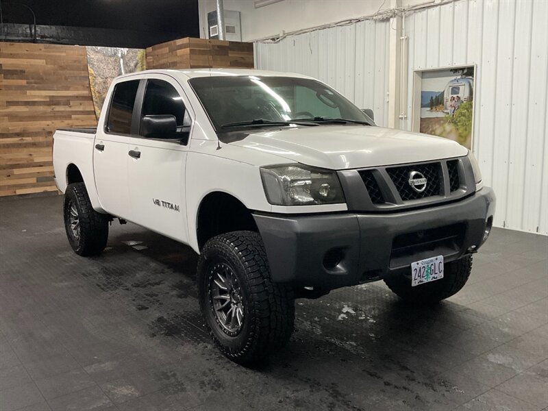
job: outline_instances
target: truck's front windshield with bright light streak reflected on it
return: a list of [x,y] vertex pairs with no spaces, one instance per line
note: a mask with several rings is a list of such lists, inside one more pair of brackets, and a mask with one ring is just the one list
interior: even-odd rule
[[[332,88],[297,77],[197,77],[190,85],[217,132],[223,125],[253,122],[347,119],[369,123],[362,110]],[[257,122],[260,119],[262,122]],[[272,125],[272,124],[270,124]]]

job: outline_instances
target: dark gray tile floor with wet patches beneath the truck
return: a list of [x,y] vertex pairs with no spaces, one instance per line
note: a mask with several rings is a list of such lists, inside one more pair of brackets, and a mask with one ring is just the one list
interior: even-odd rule
[[384,284],[297,300],[288,347],[225,360],[200,318],[197,257],[134,225],[71,251],[61,197],[0,200],[0,410],[543,410],[548,240],[495,229],[436,308]]

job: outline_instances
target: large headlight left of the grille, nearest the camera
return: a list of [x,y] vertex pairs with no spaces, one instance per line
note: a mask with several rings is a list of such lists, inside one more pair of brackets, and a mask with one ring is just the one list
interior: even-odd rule
[[262,185],[269,203],[276,206],[311,206],[344,203],[345,196],[334,171],[301,164],[261,169]]

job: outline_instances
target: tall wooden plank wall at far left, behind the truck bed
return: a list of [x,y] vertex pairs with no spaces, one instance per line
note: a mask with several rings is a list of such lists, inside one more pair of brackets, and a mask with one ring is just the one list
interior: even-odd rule
[[0,196],[55,191],[53,132],[95,125],[85,47],[0,42]]

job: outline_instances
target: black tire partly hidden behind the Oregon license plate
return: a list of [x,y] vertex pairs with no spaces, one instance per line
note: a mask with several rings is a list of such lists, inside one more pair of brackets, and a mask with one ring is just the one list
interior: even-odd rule
[[403,275],[387,278],[384,282],[403,301],[416,306],[429,306],[459,292],[471,271],[472,256],[465,256],[446,263],[443,278],[427,284],[412,287],[410,279]]

